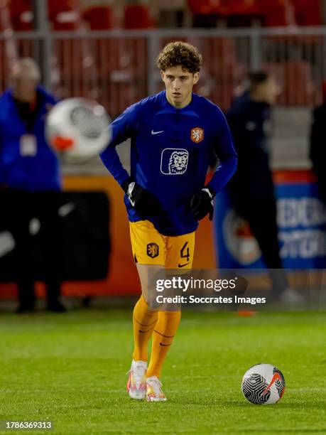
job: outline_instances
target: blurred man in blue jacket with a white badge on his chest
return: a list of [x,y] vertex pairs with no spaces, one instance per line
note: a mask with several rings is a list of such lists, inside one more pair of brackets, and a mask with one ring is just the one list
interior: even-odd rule
[[40,70],[31,58],[15,60],[9,90],[0,98],[0,184],[3,205],[16,242],[16,282],[19,312],[33,311],[35,293],[30,225],[38,218],[43,240],[42,279],[48,309],[64,311],[59,301],[61,243],[57,157],[45,141],[45,117],[55,98],[38,85]]

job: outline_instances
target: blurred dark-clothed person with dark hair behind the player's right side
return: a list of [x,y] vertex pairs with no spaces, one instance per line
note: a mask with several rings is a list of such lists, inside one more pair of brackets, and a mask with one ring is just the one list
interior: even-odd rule
[[288,288],[278,245],[276,199],[269,164],[268,124],[276,102],[276,81],[264,72],[249,75],[249,87],[237,97],[227,121],[238,154],[237,172],[228,184],[232,206],[249,223],[270,270],[272,294],[276,299],[298,301]]

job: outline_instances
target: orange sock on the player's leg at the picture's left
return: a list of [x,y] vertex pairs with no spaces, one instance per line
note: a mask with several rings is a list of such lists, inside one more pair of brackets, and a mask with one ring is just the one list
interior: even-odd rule
[[134,354],[135,361],[147,361],[148,340],[158,320],[158,311],[151,311],[141,295],[134,308]]

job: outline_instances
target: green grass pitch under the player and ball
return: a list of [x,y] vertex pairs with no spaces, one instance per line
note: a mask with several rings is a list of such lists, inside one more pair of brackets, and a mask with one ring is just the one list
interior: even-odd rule
[[[326,433],[325,313],[183,313],[165,403],[126,394],[131,309],[1,314],[0,337],[1,420],[51,420],[48,433],[69,435]],[[261,362],[286,378],[276,405],[241,394],[242,375]]]

